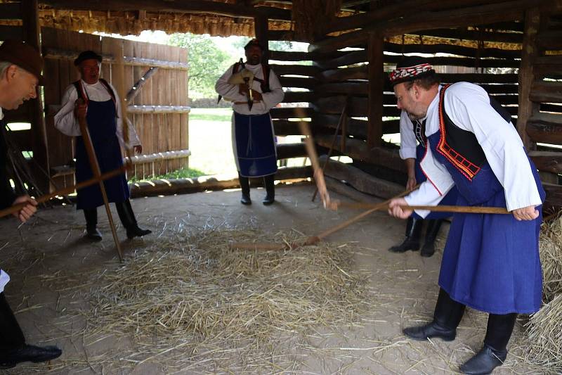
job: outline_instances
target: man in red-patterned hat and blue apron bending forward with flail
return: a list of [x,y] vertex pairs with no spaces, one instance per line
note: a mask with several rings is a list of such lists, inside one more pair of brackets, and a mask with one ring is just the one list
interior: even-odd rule
[[[488,312],[483,348],[465,362],[464,374],[490,374],[507,357],[517,314],[537,312],[542,296],[539,231],[544,190],[511,117],[484,89],[458,82],[426,86],[424,61],[412,59],[391,72],[398,108],[426,118],[427,176],[417,191],[393,199],[400,205],[436,205],[453,186],[457,205],[504,207],[512,215],[455,213],[443,252],[433,321],[404,329],[414,340],[455,339],[465,306]],[[417,212],[424,217],[428,212]]]

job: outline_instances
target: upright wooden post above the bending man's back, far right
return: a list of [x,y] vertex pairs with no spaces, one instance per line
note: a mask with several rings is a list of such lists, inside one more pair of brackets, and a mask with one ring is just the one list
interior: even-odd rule
[[532,66],[537,57],[537,32],[540,26],[540,11],[530,8],[525,12],[525,30],[523,34],[523,51],[521,51],[521,67],[519,68],[518,89],[519,108],[517,113],[517,131],[528,150],[535,148],[527,134],[527,122],[538,110],[538,104],[530,101],[529,95],[535,75]]

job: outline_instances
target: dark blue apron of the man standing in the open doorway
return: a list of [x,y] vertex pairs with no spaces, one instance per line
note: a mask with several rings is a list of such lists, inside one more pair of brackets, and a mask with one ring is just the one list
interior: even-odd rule
[[269,113],[234,113],[234,151],[242,177],[263,177],[277,172],[275,137]]

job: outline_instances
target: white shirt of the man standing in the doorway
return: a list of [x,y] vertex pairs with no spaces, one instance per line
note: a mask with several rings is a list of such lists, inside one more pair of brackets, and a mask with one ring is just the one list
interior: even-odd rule
[[[238,85],[228,83],[228,78],[230,78],[230,76],[233,73],[233,66],[234,65],[230,66],[230,68],[228,68],[228,70],[223,75],[221,75],[218,81],[216,81],[215,90],[219,95],[223,96],[223,98],[226,98],[227,100],[233,102],[236,101],[247,102],[248,97],[245,94],[240,94],[238,92]],[[246,64],[246,69],[254,73],[254,77],[263,80],[263,68],[261,64],[258,65]],[[238,69],[238,71],[240,71],[240,68]],[[279,82],[279,79],[277,78],[277,75],[275,75],[275,72],[273,72],[273,70],[269,71],[269,89],[271,90],[270,92],[262,93],[261,84],[256,80],[252,82],[251,89],[260,92],[263,100],[260,102],[254,102],[254,106],[251,107],[251,110],[249,110],[247,103],[244,104],[233,103],[233,110],[236,113],[240,113],[240,115],[263,115],[264,113],[268,113],[271,108],[281,103],[283,101],[283,97],[285,96],[285,93],[283,92],[283,88],[281,87],[281,83]]]

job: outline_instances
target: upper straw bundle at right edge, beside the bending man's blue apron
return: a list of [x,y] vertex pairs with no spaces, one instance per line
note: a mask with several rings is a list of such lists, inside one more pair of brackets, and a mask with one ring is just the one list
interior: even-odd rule
[[562,217],[542,224],[539,244],[544,299],[549,302],[562,293]]

